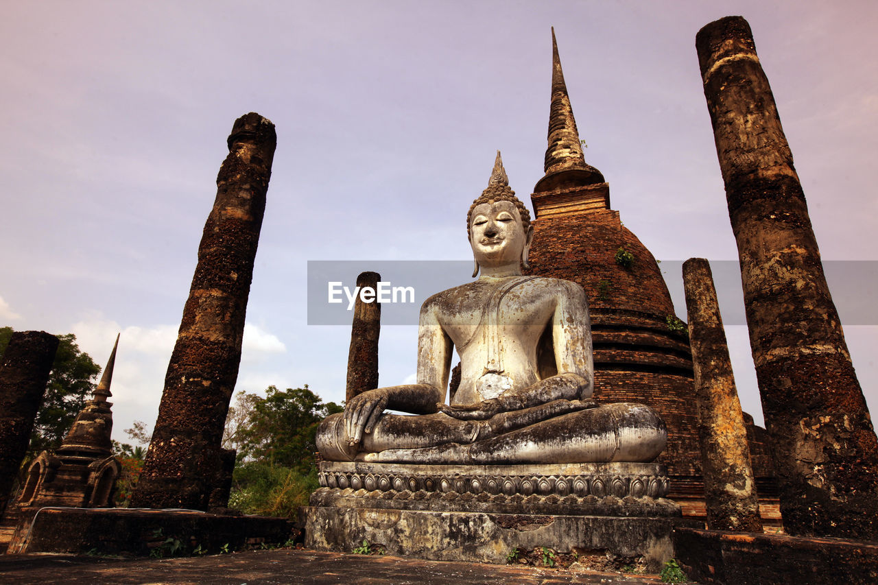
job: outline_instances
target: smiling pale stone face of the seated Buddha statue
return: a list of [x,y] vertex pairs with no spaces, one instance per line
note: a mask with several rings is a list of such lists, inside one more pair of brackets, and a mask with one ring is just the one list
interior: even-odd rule
[[483,203],[473,209],[470,233],[472,254],[483,267],[520,262],[529,236],[510,201]]

